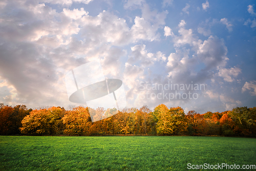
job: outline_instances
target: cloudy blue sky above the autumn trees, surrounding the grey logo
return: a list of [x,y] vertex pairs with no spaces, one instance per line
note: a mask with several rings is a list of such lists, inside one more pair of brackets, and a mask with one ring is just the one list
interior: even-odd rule
[[0,102],[69,101],[65,76],[99,60],[127,108],[256,106],[255,1],[1,0]]

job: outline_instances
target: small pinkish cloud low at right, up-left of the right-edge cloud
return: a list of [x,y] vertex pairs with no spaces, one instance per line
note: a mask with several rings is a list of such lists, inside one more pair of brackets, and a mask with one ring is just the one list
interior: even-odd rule
[[238,68],[238,67],[234,67],[234,68],[230,68],[230,69],[221,68],[219,70],[218,75],[220,77],[223,77],[225,81],[232,82],[232,81],[235,80],[235,79],[232,78],[232,76],[237,77],[238,74],[240,74],[240,73],[241,73],[241,69]]

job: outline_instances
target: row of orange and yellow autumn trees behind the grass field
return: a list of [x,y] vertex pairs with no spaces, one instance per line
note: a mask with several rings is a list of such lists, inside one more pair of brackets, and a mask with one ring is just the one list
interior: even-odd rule
[[[103,108],[90,109],[94,116],[108,115]],[[112,111],[113,112],[113,111]],[[88,108],[58,107],[27,109],[26,105],[0,103],[0,135],[188,135],[256,137],[256,107],[238,107],[225,112],[187,114],[179,106],[160,104],[118,111],[92,122]]]

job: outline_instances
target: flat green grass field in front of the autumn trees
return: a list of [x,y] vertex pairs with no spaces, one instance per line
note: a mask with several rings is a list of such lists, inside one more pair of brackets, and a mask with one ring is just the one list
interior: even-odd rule
[[0,170],[188,170],[255,157],[254,138],[0,136]]

